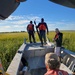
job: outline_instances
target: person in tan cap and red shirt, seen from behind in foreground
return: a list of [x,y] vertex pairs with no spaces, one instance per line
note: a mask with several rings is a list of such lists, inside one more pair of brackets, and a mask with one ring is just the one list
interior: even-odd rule
[[44,75],[69,75],[66,71],[60,70],[60,61],[55,53],[45,55],[45,65],[47,72]]

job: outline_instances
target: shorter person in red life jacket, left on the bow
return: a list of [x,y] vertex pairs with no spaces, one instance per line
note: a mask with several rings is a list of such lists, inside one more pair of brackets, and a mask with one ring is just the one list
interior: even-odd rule
[[27,32],[29,34],[30,43],[32,43],[32,39],[33,39],[33,42],[36,43],[35,37],[34,37],[34,33],[35,33],[34,24],[32,23],[32,21],[30,21],[30,24],[28,24],[27,26]]

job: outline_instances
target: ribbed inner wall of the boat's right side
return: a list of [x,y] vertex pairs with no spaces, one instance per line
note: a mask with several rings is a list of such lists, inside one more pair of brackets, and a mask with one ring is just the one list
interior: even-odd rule
[[61,57],[62,63],[75,72],[75,53],[63,48],[61,49]]

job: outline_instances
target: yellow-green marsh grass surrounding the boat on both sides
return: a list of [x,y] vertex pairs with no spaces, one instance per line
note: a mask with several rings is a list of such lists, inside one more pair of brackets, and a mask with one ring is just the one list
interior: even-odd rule
[[[75,32],[73,31],[62,31],[63,33],[63,46],[75,52]],[[47,35],[48,39],[52,42],[55,32],[50,31]],[[26,32],[18,33],[0,33],[0,59],[4,70],[6,71],[11,60],[19,47],[23,44],[24,39],[28,40],[28,34]],[[37,33],[35,33],[36,41],[39,41]]]

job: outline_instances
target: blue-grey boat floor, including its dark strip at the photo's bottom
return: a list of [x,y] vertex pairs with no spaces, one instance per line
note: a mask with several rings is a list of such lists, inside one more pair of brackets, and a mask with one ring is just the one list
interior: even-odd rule
[[44,56],[31,57],[27,60],[31,75],[44,75],[46,73]]

